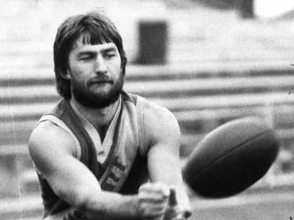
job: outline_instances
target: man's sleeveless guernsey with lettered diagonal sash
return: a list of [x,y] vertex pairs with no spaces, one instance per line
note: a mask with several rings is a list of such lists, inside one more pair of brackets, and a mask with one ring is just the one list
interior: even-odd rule
[[[92,171],[102,190],[130,195],[137,193],[139,186],[148,180],[146,159],[148,146],[144,143],[143,128],[141,128],[143,102],[146,100],[142,97],[122,92],[112,145],[102,163],[97,159],[95,140],[91,139],[83,128],[80,118],[73,111],[69,101],[62,99],[42,118],[48,115],[57,117],[71,131],[81,147],[80,161]],[[57,197],[40,173],[38,177],[44,205],[44,218],[71,208],[69,204]],[[82,220],[86,217],[72,209],[63,219]]]

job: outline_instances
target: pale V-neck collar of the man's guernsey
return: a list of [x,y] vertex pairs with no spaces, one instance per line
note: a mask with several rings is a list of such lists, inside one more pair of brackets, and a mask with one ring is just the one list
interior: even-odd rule
[[70,104],[71,108],[75,112],[76,116],[78,116],[78,118],[80,119],[82,126],[85,128],[86,132],[88,133],[88,135],[90,136],[95,145],[98,161],[101,164],[103,164],[107,159],[108,154],[110,153],[110,148],[114,140],[114,130],[117,125],[120,109],[122,108],[121,97],[119,97],[119,104],[117,106],[117,109],[114,113],[112,120],[110,121],[110,126],[108,126],[103,142],[101,141],[100,135],[95,126],[93,126],[93,124],[90,123],[90,121],[88,121],[88,119],[85,116],[83,116],[83,114],[81,114],[80,111],[78,111],[78,109],[72,102],[70,102]]

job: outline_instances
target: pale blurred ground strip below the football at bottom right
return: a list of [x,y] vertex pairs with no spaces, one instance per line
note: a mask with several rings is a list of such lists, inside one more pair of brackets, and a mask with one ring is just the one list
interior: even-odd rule
[[294,216],[294,192],[231,197],[225,200],[193,199],[193,220],[283,220]]

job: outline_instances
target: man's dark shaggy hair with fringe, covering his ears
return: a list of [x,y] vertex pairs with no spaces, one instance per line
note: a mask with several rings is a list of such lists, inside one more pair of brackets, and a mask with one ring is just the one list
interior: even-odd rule
[[101,11],[71,16],[61,23],[54,41],[54,72],[57,92],[64,99],[71,98],[71,81],[66,79],[69,66],[69,53],[81,39],[83,44],[102,44],[113,42],[122,60],[122,75],[125,75],[127,56],[124,52],[122,37],[117,27]]

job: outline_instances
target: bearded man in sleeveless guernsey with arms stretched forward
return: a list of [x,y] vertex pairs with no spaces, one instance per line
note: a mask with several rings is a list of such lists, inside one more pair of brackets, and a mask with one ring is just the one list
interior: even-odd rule
[[29,149],[44,218],[186,219],[180,129],[167,109],[122,90],[122,38],[100,12],[72,16],[54,42],[61,101]]

